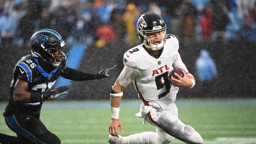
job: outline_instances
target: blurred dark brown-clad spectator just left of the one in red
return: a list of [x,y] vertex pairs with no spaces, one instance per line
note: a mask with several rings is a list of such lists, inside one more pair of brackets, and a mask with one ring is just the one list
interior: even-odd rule
[[184,0],[180,10],[182,13],[182,37],[193,40],[195,38],[198,10],[190,0]]

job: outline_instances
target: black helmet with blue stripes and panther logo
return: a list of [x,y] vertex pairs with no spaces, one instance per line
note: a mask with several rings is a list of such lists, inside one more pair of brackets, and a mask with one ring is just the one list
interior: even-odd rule
[[[64,40],[58,32],[51,29],[42,29],[35,32],[31,38],[32,54],[42,59],[44,62],[48,62],[53,66],[59,66],[60,62],[56,62],[56,57],[53,55],[58,50],[62,51],[62,48],[66,46]],[[62,51],[62,64],[66,63],[68,53]]]

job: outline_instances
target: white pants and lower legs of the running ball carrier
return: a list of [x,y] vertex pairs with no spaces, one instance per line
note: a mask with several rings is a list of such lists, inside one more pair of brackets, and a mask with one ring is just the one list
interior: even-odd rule
[[166,110],[152,107],[146,121],[156,126],[156,132],[142,132],[123,137],[122,144],[171,144],[174,138],[187,144],[203,144],[200,134],[178,119],[178,109],[174,103]]

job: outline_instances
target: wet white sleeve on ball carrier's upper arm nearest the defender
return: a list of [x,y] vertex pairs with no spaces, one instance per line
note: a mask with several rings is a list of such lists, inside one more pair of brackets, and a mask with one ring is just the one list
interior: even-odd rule
[[124,66],[124,69],[118,76],[118,82],[121,86],[127,87],[136,76],[139,76],[138,72],[129,66]]

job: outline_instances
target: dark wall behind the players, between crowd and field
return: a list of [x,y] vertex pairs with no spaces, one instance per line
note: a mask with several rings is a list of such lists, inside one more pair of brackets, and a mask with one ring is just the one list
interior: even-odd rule
[[[114,41],[102,48],[88,46],[82,56],[78,69],[96,73],[112,64],[117,64],[116,70],[110,71],[110,78],[101,80],[75,82],[71,84],[66,99],[108,99],[112,84],[122,70],[122,56],[126,50],[132,48],[124,42]],[[179,52],[188,70],[194,74],[196,58],[202,48],[210,52],[216,62],[218,77],[212,85],[211,98],[247,98],[256,94],[256,43],[249,40],[230,40],[226,42],[186,42],[180,40]],[[66,50],[70,50],[69,47]],[[16,62],[23,55],[31,54],[29,45],[10,45],[0,49],[0,101],[8,101],[12,71]],[[69,59],[72,64],[72,59]],[[198,80],[196,86],[190,90],[180,88],[179,98],[208,98],[202,92],[202,85]],[[133,85],[124,90],[126,99],[138,98]]]

